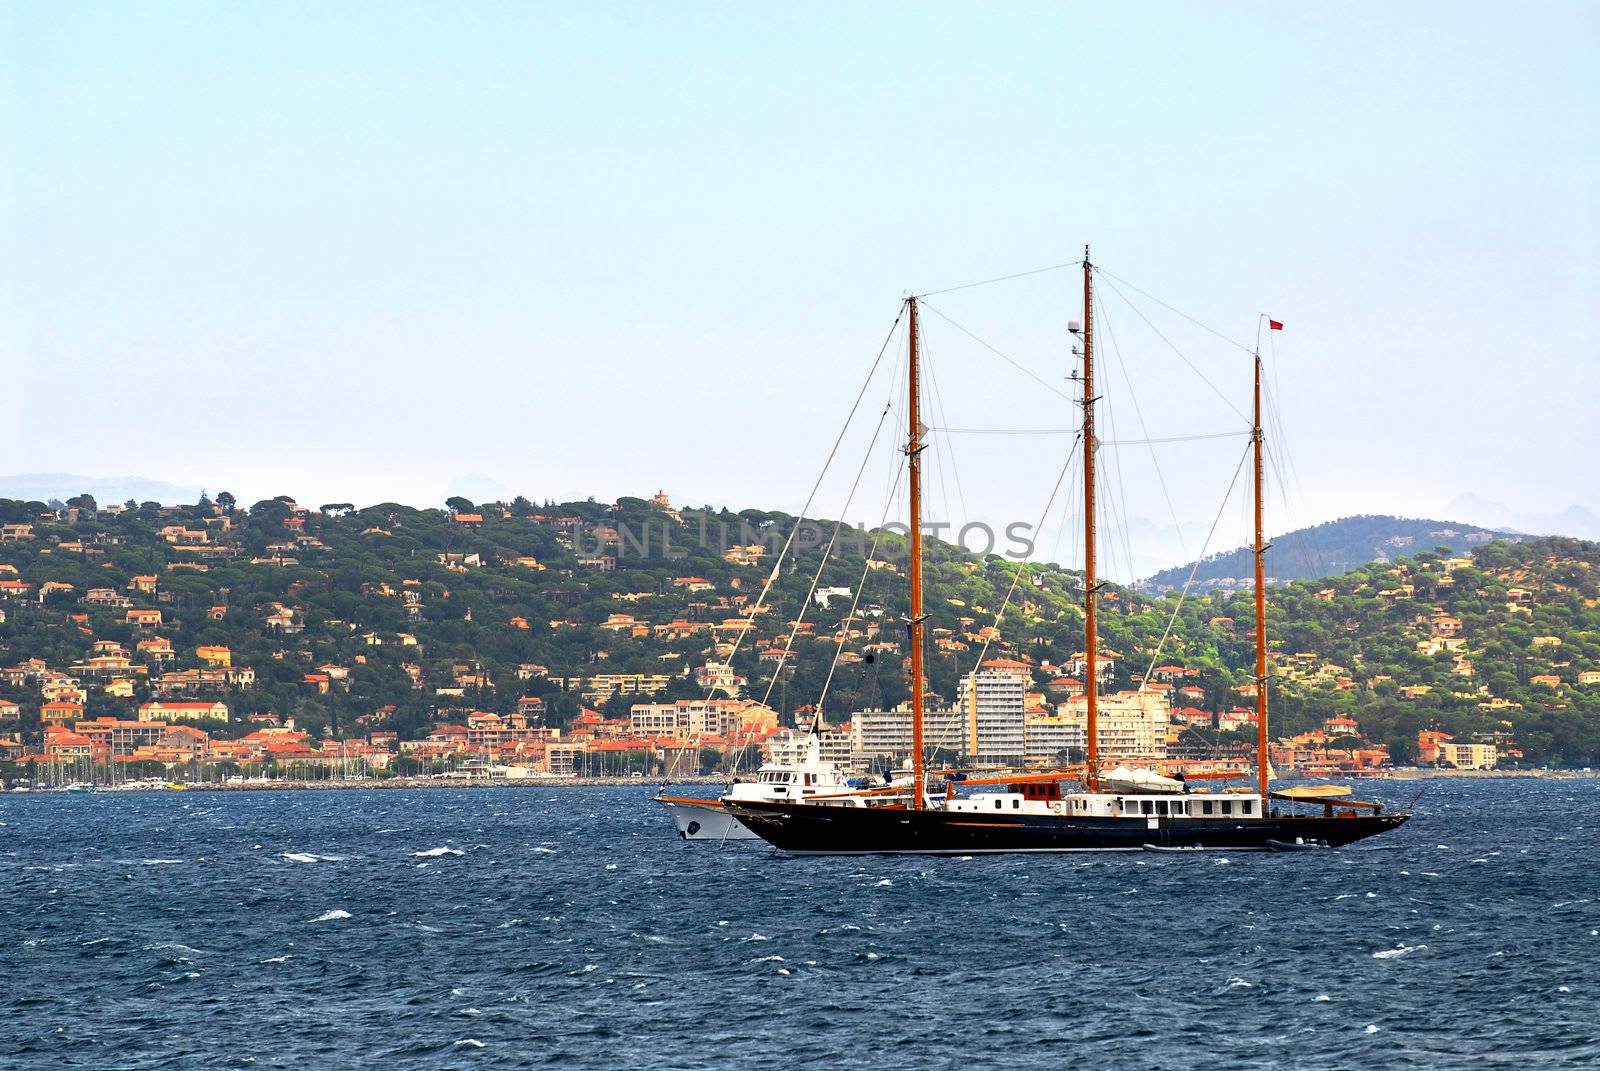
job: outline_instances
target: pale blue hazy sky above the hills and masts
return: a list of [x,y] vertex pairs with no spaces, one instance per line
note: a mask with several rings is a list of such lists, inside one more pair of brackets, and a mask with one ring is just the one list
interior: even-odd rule
[[[1102,447],[1131,557],[1238,535],[1262,314],[1275,530],[1600,509],[1595,54],[1592,3],[10,2],[0,472],[797,511],[906,293],[1069,264],[923,339],[931,426],[1075,421],[1090,243],[1102,423],[1234,435]],[[885,509],[902,352],[816,512]],[[930,498],[1037,519],[1069,448],[938,431]]]

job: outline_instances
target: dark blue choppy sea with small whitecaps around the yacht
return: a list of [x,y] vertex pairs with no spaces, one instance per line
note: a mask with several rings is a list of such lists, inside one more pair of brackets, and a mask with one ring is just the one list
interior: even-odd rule
[[1194,856],[787,858],[648,794],[0,797],[0,1066],[1600,1066],[1595,780]]

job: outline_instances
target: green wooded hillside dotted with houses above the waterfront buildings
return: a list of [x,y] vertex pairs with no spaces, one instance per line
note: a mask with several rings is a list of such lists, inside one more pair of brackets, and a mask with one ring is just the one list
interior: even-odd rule
[[[45,690],[64,680],[90,717],[130,717],[160,695],[221,698],[232,724],[218,733],[275,711],[333,735],[418,736],[467,711],[512,711],[520,696],[542,696],[560,724],[582,706],[626,714],[635,688],[702,698],[707,666],[760,700],[795,621],[771,688],[782,714],[818,700],[840,642],[830,720],[906,696],[904,544],[885,536],[888,560],[864,570],[870,536],[843,540],[821,588],[850,594],[822,605],[805,600],[827,535],[813,527],[757,613],[794,523],[782,514],[638,498],[453,501],[453,512],[269,499],[246,511],[221,495],[122,511],[0,499],[0,700],[16,704],[0,735],[37,740]],[[971,669],[1014,568],[930,544],[936,692],[952,695]],[[1274,727],[1354,714],[1398,759],[1419,728],[1440,727],[1498,735],[1528,762],[1600,764],[1597,581],[1600,546],[1547,538],[1275,586]],[[1032,661],[1040,684],[1062,672],[1082,648],[1078,599],[1075,573],[1030,567],[989,656]],[[1102,605],[1104,645],[1118,655],[1110,684],[1126,687],[1155,661],[1178,596],[1107,588]],[[1186,703],[1248,701],[1251,621],[1248,592],[1182,604],[1158,661],[1190,671]],[[13,672],[29,660],[48,672]]]

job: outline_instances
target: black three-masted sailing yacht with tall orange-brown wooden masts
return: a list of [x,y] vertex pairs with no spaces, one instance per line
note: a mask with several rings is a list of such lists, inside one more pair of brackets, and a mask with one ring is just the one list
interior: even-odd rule
[[[1299,850],[1339,847],[1397,829],[1410,813],[1386,813],[1382,804],[1349,799],[1339,786],[1304,786],[1274,792],[1267,760],[1267,632],[1266,540],[1262,533],[1261,354],[1254,355],[1254,568],[1256,568],[1256,776],[1254,786],[1211,791],[1154,770],[1104,772],[1099,748],[1099,680],[1094,557],[1094,269],[1083,253],[1083,322],[1069,330],[1082,343],[1083,640],[1086,696],[1086,760],[1082,768],[1051,773],[946,780],[942,799],[926,791],[923,749],[923,568],[922,451],[926,427],[918,418],[917,298],[906,299],[909,331],[906,443],[910,533],[910,692],[912,784],[904,804],[880,807],[816,807],[797,800],[725,797],[722,805],[746,828],[797,855],[976,855],[1011,852],[1184,852]],[[1064,784],[1075,783],[1075,791]],[[1306,808],[1306,810],[1296,810]]]

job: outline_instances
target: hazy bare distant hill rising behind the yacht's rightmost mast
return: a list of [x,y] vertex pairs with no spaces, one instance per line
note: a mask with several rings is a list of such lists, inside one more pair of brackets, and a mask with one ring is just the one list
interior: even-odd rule
[[[1458,554],[1501,540],[1528,540],[1517,531],[1482,528],[1450,520],[1418,520],[1410,517],[1341,517],[1312,528],[1299,528],[1270,540],[1267,549],[1269,581],[1317,580],[1338,576],[1370,562],[1390,562],[1402,556],[1435,548]],[[1182,588],[1194,562],[1163,568],[1136,584],[1139,591]],[[1213,554],[1195,572],[1197,588],[1232,588],[1254,576],[1250,548]]]

